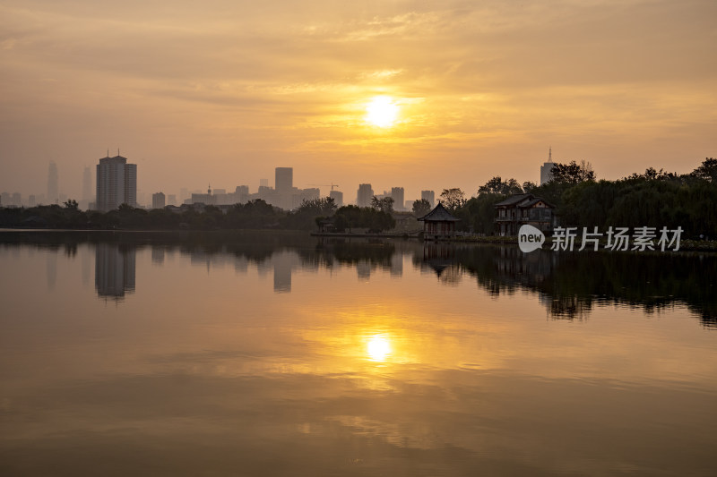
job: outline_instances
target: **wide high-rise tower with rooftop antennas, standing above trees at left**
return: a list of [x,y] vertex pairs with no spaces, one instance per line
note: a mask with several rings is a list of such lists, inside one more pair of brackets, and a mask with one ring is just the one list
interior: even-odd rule
[[137,206],[137,165],[127,158],[101,158],[97,165],[97,209],[117,209],[122,204]]

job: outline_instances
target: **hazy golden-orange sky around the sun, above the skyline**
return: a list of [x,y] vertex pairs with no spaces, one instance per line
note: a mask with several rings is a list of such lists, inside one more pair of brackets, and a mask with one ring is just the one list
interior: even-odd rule
[[[0,192],[78,197],[120,154],[138,193],[274,181],[376,193],[598,178],[717,157],[713,0],[0,0]],[[389,125],[367,121],[383,97]]]

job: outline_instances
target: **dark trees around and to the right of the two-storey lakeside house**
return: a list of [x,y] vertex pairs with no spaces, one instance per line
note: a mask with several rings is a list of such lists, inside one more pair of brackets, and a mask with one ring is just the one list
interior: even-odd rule
[[691,238],[717,236],[717,159],[705,158],[685,175],[649,167],[616,181],[596,180],[590,163],[556,163],[552,179],[538,185],[515,179],[491,178],[475,197],[460,189],[445,189],[441,200],[458,228],[494,234],[495,205],[514,194],[531,193],[556,207],[563,226],[681,226]]

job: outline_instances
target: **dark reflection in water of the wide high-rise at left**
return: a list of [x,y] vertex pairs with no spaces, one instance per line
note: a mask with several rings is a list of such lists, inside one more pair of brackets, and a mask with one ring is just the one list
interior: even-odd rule
[[117,243],[98,243],[95,248],[95,289],[99,297],[116,301],[134,292],[135,249]]

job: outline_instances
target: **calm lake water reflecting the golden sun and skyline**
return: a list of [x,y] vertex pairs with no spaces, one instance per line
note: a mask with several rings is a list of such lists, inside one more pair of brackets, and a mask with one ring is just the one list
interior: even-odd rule
[[714,475],[717,257],[0,233],[0,474]]

